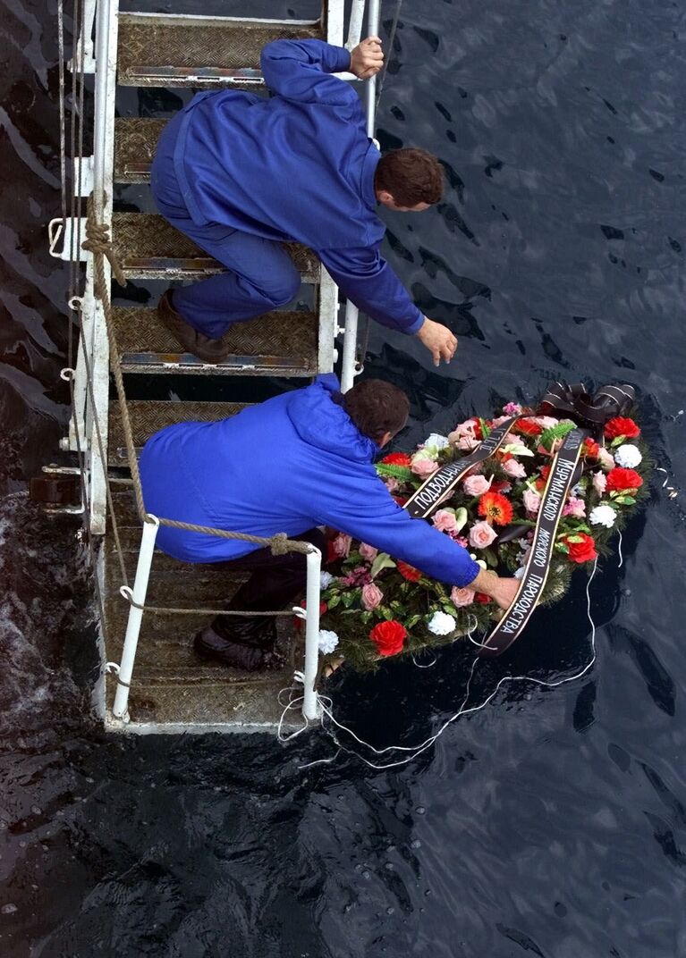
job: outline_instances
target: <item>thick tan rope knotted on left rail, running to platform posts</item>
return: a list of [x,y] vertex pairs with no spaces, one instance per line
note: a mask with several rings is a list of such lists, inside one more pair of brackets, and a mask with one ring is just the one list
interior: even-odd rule
[[[105,196],[103,197],[103,209],[105,209]],[[109,290],[107,288],[105,275],[105,259],[111,266],[112,273],[119,285],[126,285],[127,280],[124,271],[117,260],[112,247],[112,240],[109,236],[109,227],[98,220],[95,200],[93,194],[88,196],[87,213],[85,220],[85,237],[82,248],[93,254],[93,287],[96,299],[103,305],[105,314],[105,326],[107,331],[107,341],[109,343],[109,362],[114,375],[114,382],[117,389],[117,399],[122,416],[122,429],[124,432],[124,442],[127,448],[127,458],[131,471],[131,481],[136,499],[138,515],[142,522],[153,523],[158,521],[160,525],[171,529],[183,529],[187,532],[202,533],[206,536],[219,536],[220,538],[240,539],[244,542],[253,542],[256,545],[269,547],[273,556],[285,556],[289,552],[308,553],[312,546],[308,542],[289,539],[285,533],[276,533],[274,536],[250,536],[248,533],[229,532],[225,529],[214,529],[211,526],[199,526],[192,522],[179,522],[177,519],[157,518],[148,513],[143,500],[143,487],[140,481],[140,471],[138,469],[138,459],[136,457],[135,445],[133,442],[133,431],[131,429],[129,407],[127,405],[127,395],[124,387],[124,376],[119,358],[119,347],[117,337],[114,331],[112,321],[112,305],[109,299]],[[104,467],[106,464],[103,464]],[[109,482],[107,481],[107,489]],[[110,501],[110,510],[112,512],[113,528],[116,530],[116,517]],[[115,537],[118,541],[118,534],[115,531]],[[118,546],[118,551],[119,546]]]

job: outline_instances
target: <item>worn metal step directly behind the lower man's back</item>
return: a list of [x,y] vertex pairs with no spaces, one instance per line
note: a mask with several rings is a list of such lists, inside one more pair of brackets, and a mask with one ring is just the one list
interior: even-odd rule
[[[216,422],[235,416],[246,402],[170,402],[161,399],[130,399],[127,403],[133,445],[140,451],[150,437],[177,422]],[[110,466],[126,466],[127,450],[119,403],[109,403],[108,459]]]

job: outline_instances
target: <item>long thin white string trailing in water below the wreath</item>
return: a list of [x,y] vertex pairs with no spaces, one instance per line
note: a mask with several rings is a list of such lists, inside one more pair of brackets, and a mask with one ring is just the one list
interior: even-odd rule
[[[364,762],[366,765],[368,765],[369,768],[374,768],[378,771],[384,771],[387,768],[395,768],[398,765],[405,765],[410,762],[414,762],[414,760],[419,755],[421,755],[422,752],[426,751],[427,748],[430,748],[434,744],[434,742],[437,741],[438,737],[443,734],[443,732],[449,725],[451,725],[457,719],[460,719],[461,716],[471,715],[474,712],[480,712],[482,709],[484,709],[485,706],[494,698],[494,696],[497,695],[498,691],[500,690],[500,687],[504,685],[506,682],[532,682],[534,685],[545,686],[546,688],[549,688],[549,689],[555,689],[557,686],[565,685],[567,682],[575,682],[577,679],[581,678],[582,675],[585,675],[593,667],[596,661],[596,624],[593,621],[593,616],[591,615],[590,587],[591,587],[591,582],[593,582],[593,578],[596,574],[597,569],[598,569],[598,559],[596,559],[595,562],[593,563],[593,571],[591,572],[588,582],[586,582],[586,615],[588,616],[588,621],[591,624],[591,658],[583,667],[583,669],[581,669],[580,672],[576,673],[575,675],[568,675],[565,678],[557,679],[556,682],[549,682],[542,678],[532,678],[532,676],[530,675],[504,675],[503,678],[501,678],[500,681],[497,683],[495,689],[493,689],[491,694],[487,696],[480,705],[473,705],[471,708],[467,709],[465,708],[465,706],[469,699],[469,694],[471,692],[472,678],[474,677],[476,665],[477,665],[477,662],[479,661],[479,656],[477,655],[474,661],[472,662],[471,668],[469,670],[467,687],[466,687],[466,691],[464,694],[464,698],[462,699],[462,704],[460,708],[455,713],[455,715],[451,716],[450,719],[447,719],[446,721],[443,722],[443,724],[438,729],[438,732],[436,732],[432,736],[429,736],[428,739],[420,742],[418,745],[387,745],[385,748],[375,748],[373,745],[369,744],[369,742],[364,741],[358,735],[356,735],[355,732],[352,731],[352,729],[348,728],[346,725],[343,725],[342,722],[336,719],[333,712],[331,711],[331,699],[328,699],[329,704],[326,705],[323,697],[319,696],[319,704],[321,705],[322,714],[327,716],[328,719],[330,719],[334,723],[334,725],[336,725],[337,728],[341,729],[342,732],[346,732],[352,739],[357,741],[360,745],[363,745],[365,748],[369,749],[369,751],[373,752],[374,755],[384,755],[387,752],[412,752],[413,754],[408,756],[407,758],[398,759],[398,761],[396,762],[387,762],[385,764],[376,764],[374,762],[369,762],[362,755],[359,755],[357,752],[353,751],[352,749],[346,748],[344,745],[342,745],[341,742],[338,741],[336,736],[331,732],[331,730],[326,728],[326,726],[324,725],[322,721],[322,728],[324,728],[327,734],[333,739],[333,741],[336,742],[336,744],[338,745],[338,752],[332,758],[318,759],[316,762],[309,762],[304,765],[299,765],[298,767],[300,769],[304,769],[304,768],[312,768],[314,765],[319,765],[319,764],[331,764],[338,758],[338,756],[341,754],[341,751],[347,752],[350,755],[354,755],[361,762]],[[467,635],[469,640],[474,645],[481,645],[481,643],[478,643],[474,639],[472,639],[471,631],[468,632]],[[279,723],[279,729],[280,729],[280,723]],[[299,732],[301,731],[303,731],[303,729],[299,729],[298,732],[295,733],[295,735],[299,734]],[[293,736],[293,738],[295,738],[295,735]]]

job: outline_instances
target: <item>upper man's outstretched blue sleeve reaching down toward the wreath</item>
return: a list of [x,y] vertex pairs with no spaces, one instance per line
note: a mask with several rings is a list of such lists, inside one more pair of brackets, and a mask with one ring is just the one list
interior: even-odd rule
[[390,330],[419,331],[424,316],[390,265],[373,246],[319,249],[319,259],[357,308]]

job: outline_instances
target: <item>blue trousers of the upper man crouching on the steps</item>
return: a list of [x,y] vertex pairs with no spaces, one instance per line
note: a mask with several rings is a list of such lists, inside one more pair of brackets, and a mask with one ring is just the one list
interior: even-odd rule
[[194,223],[178,189],[173,139],[164,134],[154,160],[152,187],[162,216],[228,270],[175,289],[174,308],[187,323],[219,339],[232,323],[285,306],[296,296],[300,275],[280,243],[219,223]]

